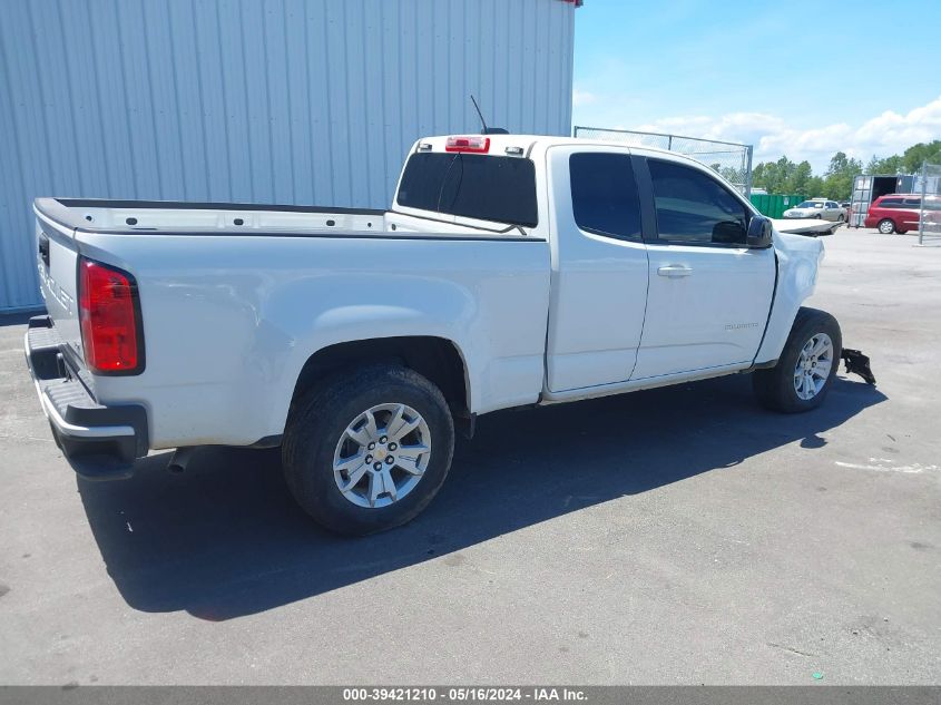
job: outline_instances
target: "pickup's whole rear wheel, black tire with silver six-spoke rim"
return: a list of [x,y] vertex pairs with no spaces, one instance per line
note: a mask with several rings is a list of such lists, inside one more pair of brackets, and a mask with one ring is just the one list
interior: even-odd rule
[[315,521],[363,536],[421,512],[444,482],[453,450],[441,391],[390,364],[335,374],[296,402],[282,459],[294,499]]

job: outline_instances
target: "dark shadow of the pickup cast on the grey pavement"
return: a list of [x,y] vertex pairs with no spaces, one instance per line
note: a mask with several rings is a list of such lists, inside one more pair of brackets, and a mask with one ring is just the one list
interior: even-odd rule
[[161,453],[130,480],[78,484],[108,571],[133,608],[224,620],[795,441],[819,452],[821,433],[884,400],[840,380],[821,409],[780,415],[757,407],[747,378],[733,376],[499,412],[480,419],[473,441],[459,440],[451,474],[423,515],[364,539],[307,519],[288,496],[276,450],[202,449],[184,474],[169,473]]

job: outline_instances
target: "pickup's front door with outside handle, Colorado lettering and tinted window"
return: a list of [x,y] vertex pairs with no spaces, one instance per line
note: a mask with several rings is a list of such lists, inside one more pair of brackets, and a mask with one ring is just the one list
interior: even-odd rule
[[638,179],[657,226],[631,379],[751,364],[774,295],[774,249],[745,246],[752,209],[706,167],[651,156],[646,166]]

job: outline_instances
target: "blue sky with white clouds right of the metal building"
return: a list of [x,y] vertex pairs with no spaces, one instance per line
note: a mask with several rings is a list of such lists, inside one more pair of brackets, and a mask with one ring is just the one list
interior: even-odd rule
[[865,163],[941,139],[939,31],[941,0],[586,0],[572,121]]

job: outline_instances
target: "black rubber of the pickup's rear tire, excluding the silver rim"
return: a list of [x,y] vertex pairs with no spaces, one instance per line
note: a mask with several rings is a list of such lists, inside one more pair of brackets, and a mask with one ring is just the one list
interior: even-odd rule
[[[431,456],[411,491],[386,507],[360,507],[340,491],[333,460],[346,427],[384,403],[411,407],[431,434]],[[334,374],[291,410],[282,445],[287,487],[317,523],[350,536],[365,536],[405,523],[438,493],[454,452],[454,424],[441,391],[419,373],[399,365],[375,365]]]

